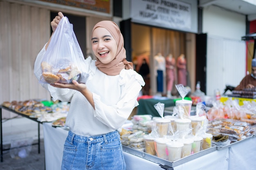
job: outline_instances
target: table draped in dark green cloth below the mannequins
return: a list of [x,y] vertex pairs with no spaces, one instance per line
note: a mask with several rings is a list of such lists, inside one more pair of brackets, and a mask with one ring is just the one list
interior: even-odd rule
[[158,102],[163,103],[164,107],[175,106],[173,99],[139,99],[137,115],[152,115],[153,117],[159,117],[159,113],[154,107]]

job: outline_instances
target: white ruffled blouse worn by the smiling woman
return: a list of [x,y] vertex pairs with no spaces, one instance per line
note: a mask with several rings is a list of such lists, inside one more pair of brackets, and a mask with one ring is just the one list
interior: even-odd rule
[[[34,64],[34,74],[40,80],[44,48],[38,53]],[[110,76],[99,71],[95,60],[88,57],[85,60],[89,78],[87,88],[93,93],[94,108],[79,92],[67,88],[55,88],[42,84],[53,98],[70,102],[66,125],[76,135],[93,136],[106,134],[115,130],[121,131],[121,126],[128,119],[133,108],[138,106],[137,97],[145,82],[141,75],[132,69],[123,69],[119,75]]]

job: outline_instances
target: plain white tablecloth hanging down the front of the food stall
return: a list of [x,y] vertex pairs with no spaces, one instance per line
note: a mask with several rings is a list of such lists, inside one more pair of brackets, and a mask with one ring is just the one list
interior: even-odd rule
[[[60,170],[63,145],[68,131],[54,128],[51,123],[43,123],[45,141],[46,170]],[[175,166],[174,170],[254,170],[256,167],[256,137],[238,144],[216,150],[197,159]],[[159,163],[124,151],[127,170],[163,170]]]

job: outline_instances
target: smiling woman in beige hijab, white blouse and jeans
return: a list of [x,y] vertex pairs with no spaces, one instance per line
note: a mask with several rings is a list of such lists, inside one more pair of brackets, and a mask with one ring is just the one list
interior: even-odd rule
[[[61,18],[63,13],[58,12],[52,20],[53,33]],[[38,53],[34,64],[38,80],[50,40]],[[73,84],[43,84],[54,101],[70,102],[66,118],[70,130],[64,144],[61,170],[125,170],[119,132],[138,105],[137,97],[145,83],[126,60],[124,38],[115,22],[98,22],[92,29],[91,42],[97,59],[84,60],[89,74],[86,84],[75,80]]]

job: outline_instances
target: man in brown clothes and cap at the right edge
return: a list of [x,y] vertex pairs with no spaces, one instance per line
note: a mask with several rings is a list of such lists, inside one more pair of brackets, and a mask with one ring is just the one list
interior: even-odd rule
[[252,73],[246,75],[234,90],[241,91],[244,88],[256,87],[256,58],[252,59]]

